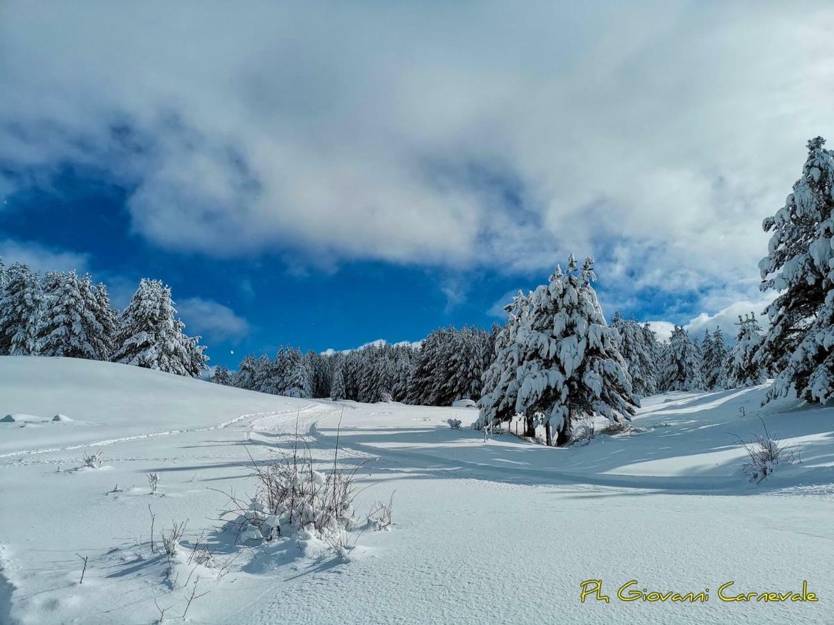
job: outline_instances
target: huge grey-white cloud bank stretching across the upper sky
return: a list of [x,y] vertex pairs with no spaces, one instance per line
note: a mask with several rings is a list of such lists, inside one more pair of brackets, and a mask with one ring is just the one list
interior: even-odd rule
[[599,7],[10,5],[0,163],[108,168],[165,248],[748,292],[834,7]]

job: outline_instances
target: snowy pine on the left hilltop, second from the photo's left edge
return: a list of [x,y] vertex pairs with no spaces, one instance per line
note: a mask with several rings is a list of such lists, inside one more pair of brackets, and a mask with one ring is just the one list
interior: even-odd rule
[[40,331],[41,354],[95,359],[98,355],[93,347],[97,332],[95,318],[87,308],[89,300],[82,295],[78,275],[74,271],[50,274],[48,287]]

